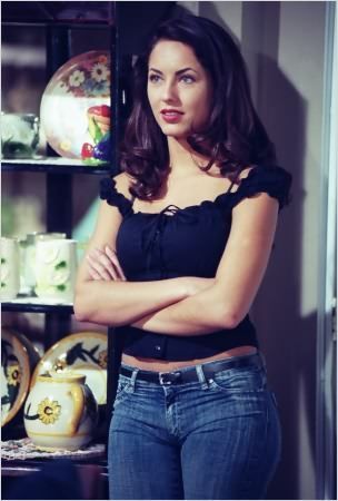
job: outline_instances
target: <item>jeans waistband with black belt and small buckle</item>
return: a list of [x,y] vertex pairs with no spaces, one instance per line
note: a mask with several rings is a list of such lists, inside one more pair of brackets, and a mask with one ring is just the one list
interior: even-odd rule
[[132,377],[140,381],[147,381],[149,383],[156,383],[160,385],[193,383],[200,381],[200,372],[206,379],[212,379],[217,372],[226,371],[229,369],[240,367],[265,367],[265,361],[260,353],[252,355],[233,356],[220,361],[207,362],[205,364],[192,365],[191,367],[185,367],[172,372],[151,372],[142,371],[137,367],[129,367],[121,365],[120,374],[127,377]]

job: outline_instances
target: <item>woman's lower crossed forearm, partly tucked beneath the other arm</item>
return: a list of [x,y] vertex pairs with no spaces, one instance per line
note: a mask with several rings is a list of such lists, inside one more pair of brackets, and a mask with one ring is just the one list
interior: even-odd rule
[[233,328],[237,322],[227,314],[218,287],[209,288],[140,318],[132,325],[158,334],[177,336],[210,334]]

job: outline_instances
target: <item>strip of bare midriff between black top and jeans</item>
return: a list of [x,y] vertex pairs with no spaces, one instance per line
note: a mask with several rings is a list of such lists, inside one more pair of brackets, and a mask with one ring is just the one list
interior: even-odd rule
[[257,353],[257,348],[255,346],[239,346],[232,350],[227,350],[226,352],[217,353],[212,356],[208,356],[207,358],[193,358],[177,362],[158,358],[141,358],[139,356],[126,355],[123,353],[122,363],[132,367],[142,369],[143,371],[171,372],[181,367],[188,367],[190,365],[203,364],[206,362],[223,360],[230,356],[251,355],[255,353]]

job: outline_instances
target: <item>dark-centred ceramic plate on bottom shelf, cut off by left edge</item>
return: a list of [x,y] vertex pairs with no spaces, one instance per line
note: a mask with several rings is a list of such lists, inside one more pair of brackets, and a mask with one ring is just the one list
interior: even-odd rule
[[29,390],[30,358],[16,333],[1,328],[1,426],[11,421]]

